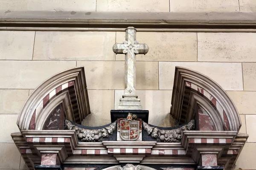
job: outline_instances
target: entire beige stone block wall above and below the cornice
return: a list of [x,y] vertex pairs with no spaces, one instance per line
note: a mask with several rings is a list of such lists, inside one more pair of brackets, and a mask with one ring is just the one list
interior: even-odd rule
[[[1,0],[0,11],[256,12],[255,0]],[[53,74],[84,66],[91,114],[85,125],[110,123],[124,88],[124,55],[112,45],[124,32],[0,31],[0,169],[26,169],[10,133],[27,97]],[[137,55],[137,94],[149,123],[170,112],[175,66],[206,74],[235,103],[249,139],[236,169],[255,170],[256,33],[138,32],[149,52]]]

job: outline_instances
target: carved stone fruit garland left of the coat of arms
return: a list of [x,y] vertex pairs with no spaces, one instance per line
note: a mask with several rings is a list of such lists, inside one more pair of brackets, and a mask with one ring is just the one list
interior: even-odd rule
[[116,121],[108,127],[102,129],[84,129],[73,125],[69,120],[65,120],[65,128],[68,130],[76,130],[77,137],[84,142],[101,142],[103,138],[108,138],[116,130]]

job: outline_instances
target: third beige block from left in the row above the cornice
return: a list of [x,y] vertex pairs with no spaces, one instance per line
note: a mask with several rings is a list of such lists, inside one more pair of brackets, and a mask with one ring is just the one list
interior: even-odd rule
[[239,12],[238,0],[170,0],[171,12]]

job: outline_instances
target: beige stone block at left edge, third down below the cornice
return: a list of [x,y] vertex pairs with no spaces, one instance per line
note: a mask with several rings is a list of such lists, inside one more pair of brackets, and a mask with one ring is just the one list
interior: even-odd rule
[[0,89],[0,114],[18,114],[26,99],[29,90]]

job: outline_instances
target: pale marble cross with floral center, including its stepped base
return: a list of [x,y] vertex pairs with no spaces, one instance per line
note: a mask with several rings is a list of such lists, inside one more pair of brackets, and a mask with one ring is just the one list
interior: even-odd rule
[[[125,41],[122,44],[116,43],[113,45],[113,51],[116,54],[125,54],[125,94],[123,98],[137,98],[136,95],[136,54],[147,54],[148,45],[139,44],[136,40],[136,29],[128,27],[125,29]],[[130,105],[120,99],[120,105]],[[121,103],[122,102],[122,103]],[[124,103],[125,102],[125,103]],[[131,103],[134,101],[131,101]],[[140,102],[140,101],[139,101]],[[141,107],[141,106],[140,106]],[[125,107],[119,107],[125,109]],[[128,107],[127,109],[138,109],[137,107]]]

